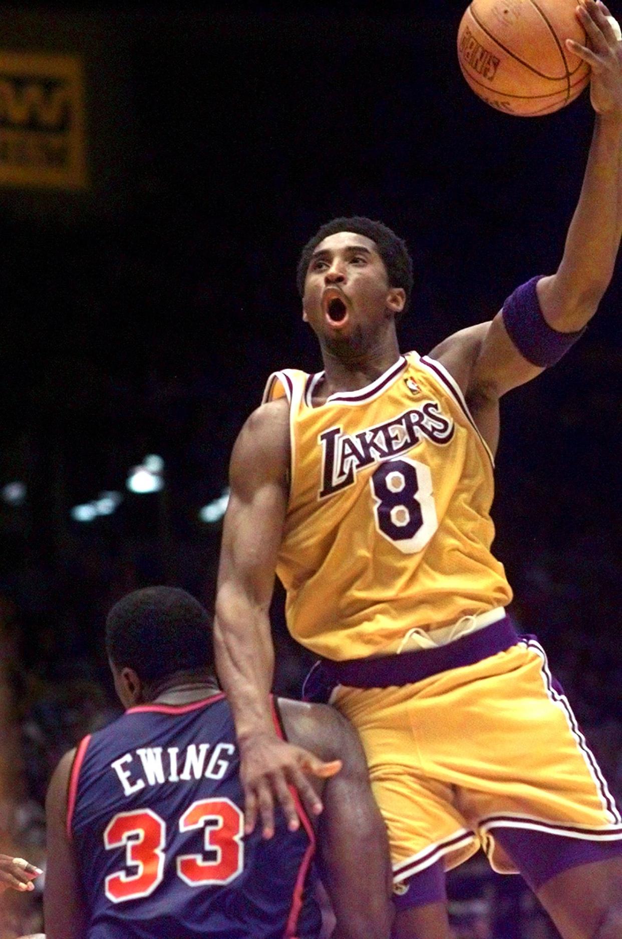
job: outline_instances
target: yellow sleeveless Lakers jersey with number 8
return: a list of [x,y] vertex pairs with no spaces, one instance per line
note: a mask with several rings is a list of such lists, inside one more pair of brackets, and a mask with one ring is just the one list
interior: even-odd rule
[[392,654],[509,603],[490,553],[492,457],[443,365],[410,352],[313,407],[322,377],[285,369],[264,394],[289,402],[277,574],[294,639],[337,660]]

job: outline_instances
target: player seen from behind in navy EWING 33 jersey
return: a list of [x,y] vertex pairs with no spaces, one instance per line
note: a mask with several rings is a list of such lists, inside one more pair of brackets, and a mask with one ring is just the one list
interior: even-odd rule
[[[324,816],[244,837],[240,757],[211,670],[206,610],[168,587],[108,614],[106,648],[128,709],[68,753],[47,797],[47,939],[317,939],[319,867],[338,939],[388,939],[386,832],[348,721],[271,699],[274,732],[317,751]],[[303,768],[307,761],[300,749]]]

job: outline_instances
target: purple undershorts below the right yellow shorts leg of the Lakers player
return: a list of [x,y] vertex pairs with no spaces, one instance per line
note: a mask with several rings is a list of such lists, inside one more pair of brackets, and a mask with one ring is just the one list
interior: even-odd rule
[[490,834],[533,890],[564,870],[622,854],[622,839],[587,841],[525,828],[502,827],[495,827]]

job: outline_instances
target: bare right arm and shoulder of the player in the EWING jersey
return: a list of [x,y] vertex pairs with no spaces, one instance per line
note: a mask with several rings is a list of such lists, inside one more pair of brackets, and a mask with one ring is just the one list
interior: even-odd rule
[[279,700],[279,707],[290,740],[343,764],[323,784],[318,823],[319,872],[336,918],[332,939],[388,937],[394,912],[389,845],[358,735],[325,704]]

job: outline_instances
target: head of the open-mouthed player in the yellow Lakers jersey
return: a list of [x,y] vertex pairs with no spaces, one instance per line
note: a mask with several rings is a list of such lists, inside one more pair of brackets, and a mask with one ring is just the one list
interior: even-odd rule
[[322,347],[362,352],[395,331],[412,294],[412,258],[381,222],[333,219],[307,241],[298,262],[303,319]]

